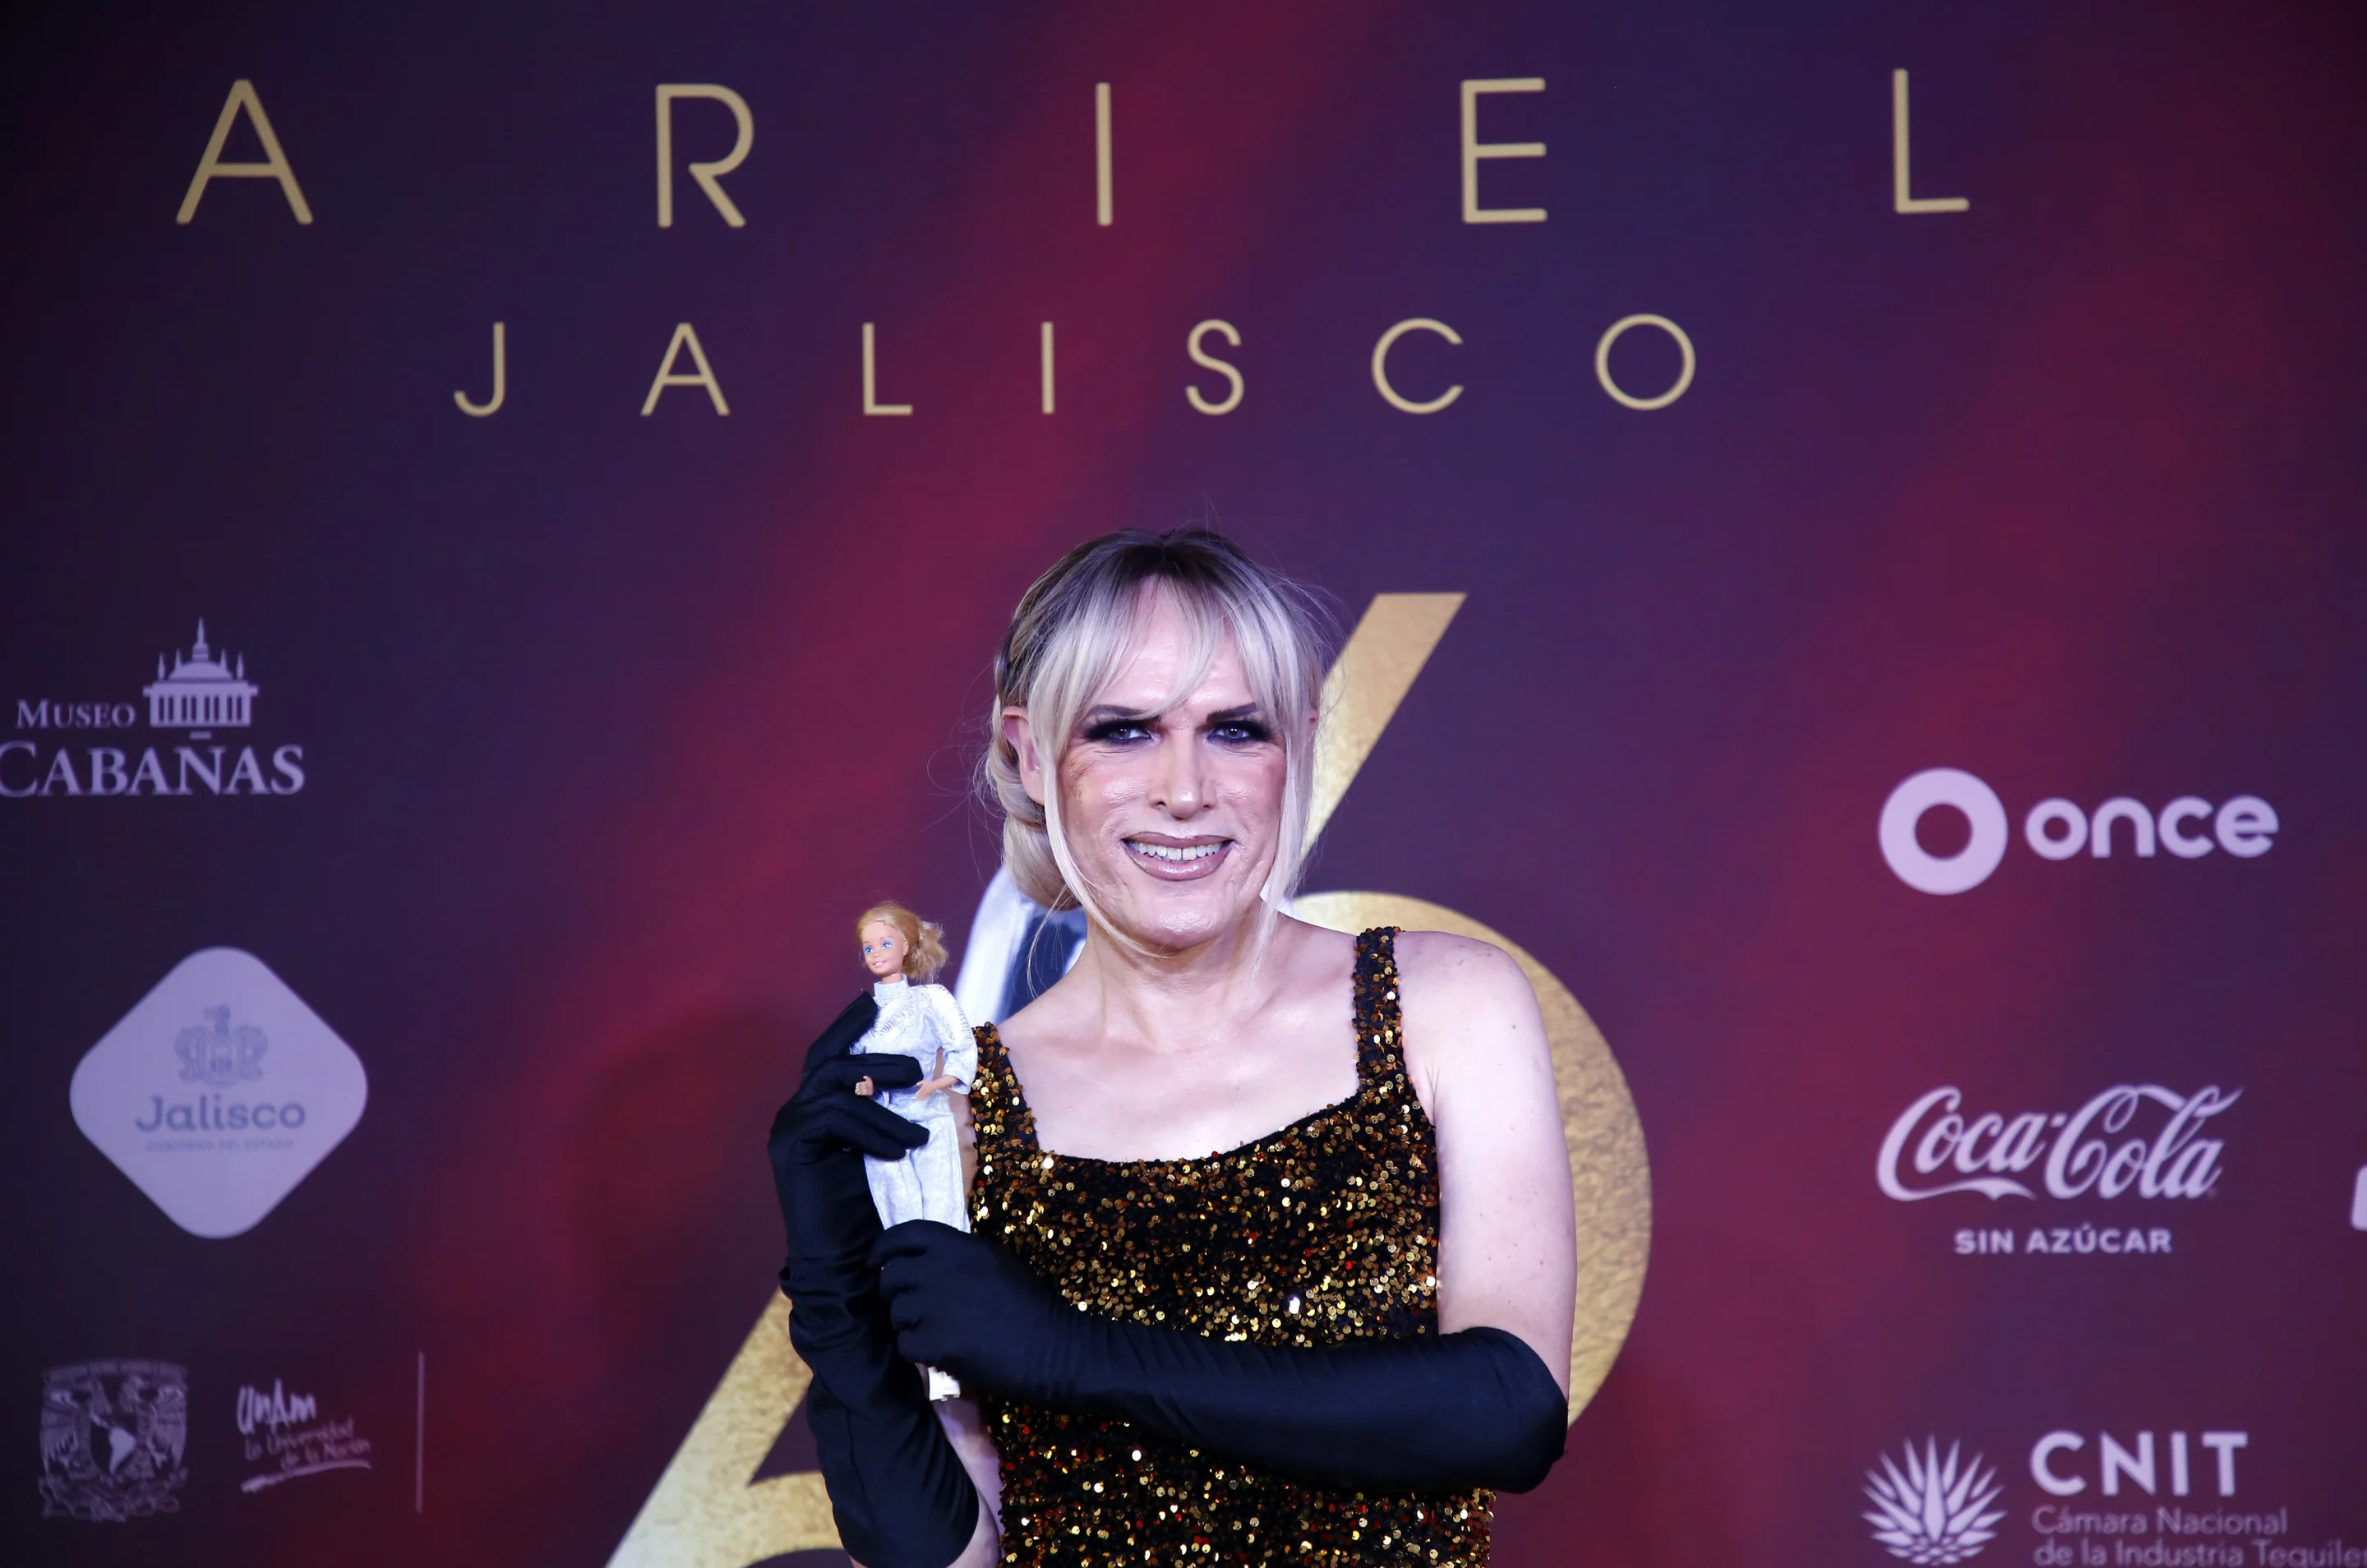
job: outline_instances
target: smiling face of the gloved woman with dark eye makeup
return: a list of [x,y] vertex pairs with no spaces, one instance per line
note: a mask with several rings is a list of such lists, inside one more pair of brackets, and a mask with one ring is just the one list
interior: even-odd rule
[[[1283,746],[1231,637],[1200,687],[1160,713],[1188,654],[1174,602],[1153,595],[1127,661],[1058,760],[1060,820],[1086,886],[1124,936],[1155,952],[1236,928],[1281,836]],[[1025,739],[1020,758],[1027,793],[1041,798]]]

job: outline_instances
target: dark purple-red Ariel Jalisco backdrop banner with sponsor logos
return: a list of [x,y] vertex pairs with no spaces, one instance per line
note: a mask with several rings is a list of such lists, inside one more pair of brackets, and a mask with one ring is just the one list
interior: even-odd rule
[[1555,1030],[1494,1561],[2367,1563],[2355,7],[5,40],[7,1561],[843,1563],[765,1130],[1212,521]]

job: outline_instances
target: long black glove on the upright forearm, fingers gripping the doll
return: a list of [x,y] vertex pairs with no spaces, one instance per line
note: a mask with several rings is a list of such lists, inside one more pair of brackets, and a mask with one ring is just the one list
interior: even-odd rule
[[928,1135],[854,1094],[854,1080],[907,1090],[911,1056],[850,1056],[878,1018],[857,997],[814,1040],[798,1094],[772,1120],[772,1180],[788,1227],[781,1291],[788,1341],[814,1369],[807,1426],[838,1540],[866,1568],[944,1568],[978,1528],[978,1490],[928,1407],[921,1374],[895,1348],[876,1289],[878,1210],[864,1156],[897,1158]]

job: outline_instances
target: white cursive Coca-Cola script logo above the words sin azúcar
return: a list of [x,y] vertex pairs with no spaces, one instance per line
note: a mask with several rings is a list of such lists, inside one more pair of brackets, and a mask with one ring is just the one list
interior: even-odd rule
[[[1875,1158],[1884,1196],[1901,1203],[1948,1191],[1991,1199],[2036,1199],[2029,1180],[2052,1199],[2199,1199],[2218,1184],[2220,1139],[2204,1137],[2204,1123],[2242,1099],[2204,1085],[2178,1094],[2159,1082],[2118,1082],[2078,1111],[1995,1111],[1967,1118],[1965,1097],[1939,1087],[1891,1123]],[[2159,1106],[2163,1120],[2152,1132],[2137,1113]],[[2147,1116],[2147,1120],[2152,1120]]]

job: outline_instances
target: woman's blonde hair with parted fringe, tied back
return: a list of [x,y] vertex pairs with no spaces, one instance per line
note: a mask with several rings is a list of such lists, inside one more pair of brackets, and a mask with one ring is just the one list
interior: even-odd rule
[[[1077,545],[1034,580],[1011,613],[994,654],[992,739],[980,765],[982,793],[1004,815],[1004,867],[1020,893],[1046,910],[1082,907],[1110,926],[1084,886],[1060,827],[1058,763],[1077,718],[1117,675],[1134,644],[1150,592],[1184,616],[1191,640],[1174,706],[1207,677],[1226,637],[1240,654],[1250,692],[1283,746],[1283,815],[1273,869],[1259,888],[1259,940],[1297,888],[1314,793],[1316,703],[1323,694],[1328,616],[1316,597],[1259,566],[1207,528],[1150,533],[1122,528]],[[1030,801],[1020,758],[1004,734],[1004,708],[1025,708],[1044,763],[1044,801]],[[1112,928],[1115,931],[1115,928]]]

